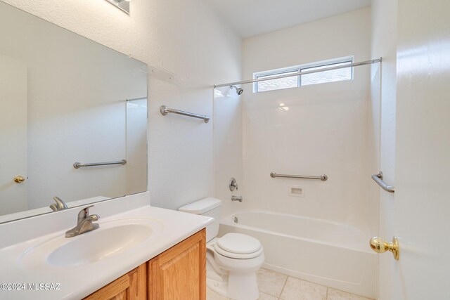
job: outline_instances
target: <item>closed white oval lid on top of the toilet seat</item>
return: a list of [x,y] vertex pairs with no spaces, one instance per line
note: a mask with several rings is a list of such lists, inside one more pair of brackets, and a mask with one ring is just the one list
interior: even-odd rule
[[242,233],[227,233],[219,238],[216,246],[225,252],[233,254],[253,254],[262,249],[259,240]]

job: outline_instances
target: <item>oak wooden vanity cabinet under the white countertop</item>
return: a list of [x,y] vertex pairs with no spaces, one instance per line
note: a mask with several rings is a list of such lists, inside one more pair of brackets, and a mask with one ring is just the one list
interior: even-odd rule
[[84,300],[206,300],[206,231],[200,230]]

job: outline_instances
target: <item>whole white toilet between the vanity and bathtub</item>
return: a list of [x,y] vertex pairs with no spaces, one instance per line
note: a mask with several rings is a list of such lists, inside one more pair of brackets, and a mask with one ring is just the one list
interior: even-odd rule
[[259,240],[241,233],[227,233],[217,238],[221,201],[205,198],[180,207],[179,211],[214,218],[206,228],[207,287],[236,300],[259,298],[256,271],[264,263]]

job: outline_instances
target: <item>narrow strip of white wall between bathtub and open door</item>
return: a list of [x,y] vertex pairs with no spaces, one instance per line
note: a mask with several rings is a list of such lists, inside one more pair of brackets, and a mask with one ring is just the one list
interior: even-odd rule
[[[395,176],[395,138],[396,138],[396,93],[397,93],[397,0],[372,1],[372,56],[383,57],[381,72],[381,101],[373,103],[380,106],[380,170],[383,180],[394,185]],[[379,86],[373,86],[379,89]],[[378,122],[375,120],[375,122]],[[373,183],[373,186],[376,185]],[[378,187],[377,187],[378,188]],[[378,192],[379,190],[379,192]],[[394,195],[378,189],[375,199],[379,202],[379,235],[388,240],[394,233]],[[371,189],[373,193],[373,189]],[[374,195],[374,194],[372,194]],[[376,197],[378,196],[378,197]],[[392,297],[391,271],[395,268],[392,256],[379,256],[379,299]]]

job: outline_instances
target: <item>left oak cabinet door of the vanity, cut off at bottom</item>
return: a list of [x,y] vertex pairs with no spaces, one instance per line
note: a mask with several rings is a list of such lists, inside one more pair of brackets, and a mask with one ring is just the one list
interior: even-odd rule
[[98,289],[84,300],[145,300],[147,298],[147,263]]

